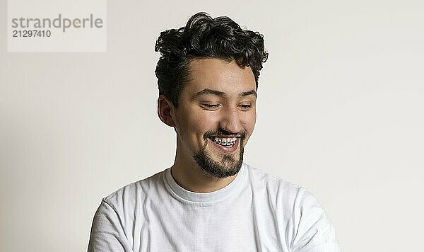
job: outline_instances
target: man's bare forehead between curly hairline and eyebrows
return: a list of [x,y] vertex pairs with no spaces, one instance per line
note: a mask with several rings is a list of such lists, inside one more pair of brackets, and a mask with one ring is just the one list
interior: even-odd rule
[[204,89],[213,89],[237,96],[242,92],[256,90],[254,74],[250,67],[239,67],[232,60],[193,59],[189,63],[190,80],[184,87],[187,95]]

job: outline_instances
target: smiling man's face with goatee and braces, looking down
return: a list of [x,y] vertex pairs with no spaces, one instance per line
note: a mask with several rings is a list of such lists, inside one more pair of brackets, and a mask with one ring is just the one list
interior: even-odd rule
[[235,175],[256,122],[256,83],[235,61],[194,59],[175,108],[177,154],[211,176]]

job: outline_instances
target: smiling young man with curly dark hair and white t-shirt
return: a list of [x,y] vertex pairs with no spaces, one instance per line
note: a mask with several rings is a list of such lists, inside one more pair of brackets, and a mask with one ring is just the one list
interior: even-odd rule
[[155,50],[175,163],[102,200],[88,251],[340,251],[310,193],[242,161],[268,57],[263,36],[197,13],[161,33]]

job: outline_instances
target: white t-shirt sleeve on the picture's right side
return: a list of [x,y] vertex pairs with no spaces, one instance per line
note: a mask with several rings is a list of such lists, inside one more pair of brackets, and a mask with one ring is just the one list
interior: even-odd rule
[[300,188],[295,200],[293,221],[297,227],[293,252],[340,252],[334,227],[315,197]]

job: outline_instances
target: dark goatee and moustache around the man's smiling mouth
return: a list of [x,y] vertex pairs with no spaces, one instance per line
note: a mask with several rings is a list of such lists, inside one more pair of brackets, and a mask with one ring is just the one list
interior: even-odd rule
[[234,157],[230,154],[224,154],[222,156],[222,159],[220,160],[214,160],[208,151],[206,151],[206,146],[208,144],[208,137],[211,137],[213,135],[229,135],[229,132],[225,132],[223,130],[218,130],[218,132],[206,132],[204,134],[205,144],[199,151],[197,151],[193,155],[194,161],[196,161],[196,164],[199,166],[199,168],[206,172],[208,175],[213,176],[215,178],[227,178],[230,176],[234,176],[240,171],[240,168],[242,168],[243,163],[243,153],[244,153],[244,146],[243,142],[246,137],[245,132],[240,133],[240,139],[239,139],[239,155],[238,159],[234,159]]

